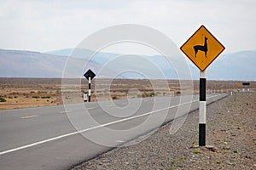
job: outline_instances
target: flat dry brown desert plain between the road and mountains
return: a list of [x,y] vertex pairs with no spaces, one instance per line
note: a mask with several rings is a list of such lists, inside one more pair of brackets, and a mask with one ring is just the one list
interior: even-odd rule
[[[0,78],[0,110],[62,105],[84,102],[88,92],[86,80],[61,84],[61,78]],[[68,81],[67,81],[68,82]],[[73,83],[78,82],[78,83]],[[256,90],[256,82],[238,88],[241,81],[207,81],[207,93]],[[181,85],[183,84],[183,85]],[[139,97],[198,94],[199,81],[94,79],[91,82],[91,101]]]

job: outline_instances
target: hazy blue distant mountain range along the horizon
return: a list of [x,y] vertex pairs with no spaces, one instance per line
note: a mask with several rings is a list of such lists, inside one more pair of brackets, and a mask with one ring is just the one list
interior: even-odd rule
[[[48,53],[0,49],[0,77],[83,77],[83,72],[90,68],[96,77],[102,78],[177,79],[175,68],[161,55],[96,53],[89,60],[93,53],[73,48]],[[188,63],[192,78],[198,79],[199,70],[189,60]],[[256,50],[221,54],[207,68],[207,79],[256,81],[255,65]]]

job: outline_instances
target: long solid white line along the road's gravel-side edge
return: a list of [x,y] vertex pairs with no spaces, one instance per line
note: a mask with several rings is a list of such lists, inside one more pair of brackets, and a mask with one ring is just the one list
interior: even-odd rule
[[[218,94],[218,95],[221,95],[221,94]],[[217,97],[218,95],[212,96],[212,97],[207,98],[207,99],[211,99],[213,97]],[[199,100],[195,99],[195,100],[193,100],[191,102],[186,102],[186,103],[183,103],[183,104],[180,104],[180,105],[188,105],[188,104],[194,103],[194,102],[199,102]],[[53,140],[56,140],[56,139],[62,139],[62,138],[68,137],[68,136],[72,136],[74,134],[84,133],[86,131],[90,131],[90,130],[96,129],[98,127],[106,127],[108,125],[112,125],[112,124],[115,124],[115,123],[118,123],[118,122],[125,122],[125,121],[131,120],[131,119],[135,119],[135,118],[138,118],[138,117],[147,116],[147,115],[155,113],[155,112],[164,111],[164,110],[167,110],[167,109],[172,109],[172,108],[175,108],[177,106],[179,106],[179,105],[172,105],[171,107],[166,107],[164,109],[160,109],[160,110],[156,110],[156,111],[150,111],[148,113],[144,113],[143,115],[127,117],[127,118],[121,119],[119,121],[108,122],[108,123],[105,123],[105,124],[102,124],[102,125],[99,125],[99,126],[96,126],[96,127],[90,127],[90,128],[86,128],[84,130],[73,132],[73,133],[67,133],[67,134],[63,134],[61,136],[56,136],[55,138],[41,140],[41,141],[38,141],[38,142],[35,142],[35,143],[32,143],[32,144],[26,144],[26,145],[23,145],[23,146],[20,146],[20,147],[11,149],[11,150],[4,150],[4,151],[0,152],[0,156],[2,156],[4,154],[7,154],[7,153],[10,153],[10,152],[17,151],[17,150],[23,150],[23,149],[26,149],[26,148],[30,148],[30,147],[38,145],[38,144],[44,144],[44,143],[47,143],[47,142],[50,142],[50,141],[53,141]]]

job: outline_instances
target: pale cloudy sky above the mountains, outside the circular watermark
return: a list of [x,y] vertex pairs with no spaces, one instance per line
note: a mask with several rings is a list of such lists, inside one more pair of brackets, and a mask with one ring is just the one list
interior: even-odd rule
[[0,48],[74,48],[107,26],[153,27],[180,47],[201,25],[226,48],[256,49],[255,0],[0,0]]

